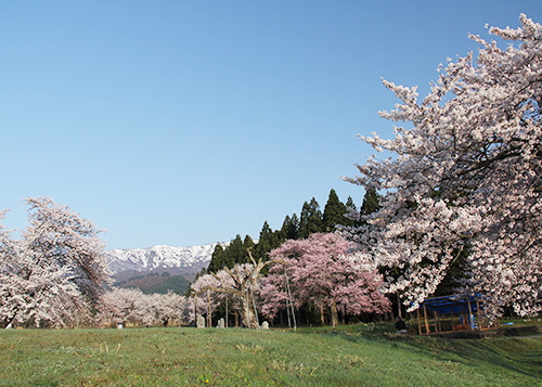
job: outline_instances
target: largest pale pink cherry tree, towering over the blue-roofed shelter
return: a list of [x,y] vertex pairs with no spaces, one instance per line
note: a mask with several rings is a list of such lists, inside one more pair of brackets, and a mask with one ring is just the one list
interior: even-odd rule
[[380,116],[410,125],[391,140],[362,137],[396,157],[373,156],[345,178],[386,193],[369,224],[345,235],[411,309],[462,250],[465,291],[488,296],[490,317],[505,305],[520,315],[542,308],[542,27],[522,14],[520,23],[489,29],[505,49],[470,36],[477,54],[441,66],[422,102],[416,88],[385,80],[402,103]]

